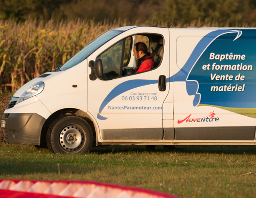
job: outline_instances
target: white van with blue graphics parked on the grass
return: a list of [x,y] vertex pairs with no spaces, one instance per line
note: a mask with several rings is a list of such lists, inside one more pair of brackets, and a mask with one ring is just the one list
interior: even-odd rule
[[[137,41],[157,67],[128,75]],[[5,140],[54,153],[93,143],[254,145],[255,46],[254,28],[111,29],[15,92]]]

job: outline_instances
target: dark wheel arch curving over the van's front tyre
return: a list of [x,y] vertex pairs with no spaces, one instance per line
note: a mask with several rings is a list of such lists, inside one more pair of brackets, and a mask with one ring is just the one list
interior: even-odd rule
[[98,129],[97,129],[97,123],[93,120],[93,118],[87,114],[86,112],[80,110],[80,109],[73,109],[73,108],[65,108],[60,109],[52,115],[47,118],[47,120],[44,123],[44,126],[41,130],[41,138],[40,138],[40,145],[46,146],[46,136],[47,136],[47,130],[49,126],[52,124],[53,121],[55,121],[57,118],[60,118],[64,115],[76,115],[81,118],[83,118],[87,123],[90,125],[92,131],[93,131],[93,143],[96,143],[96,146],[98,146]]

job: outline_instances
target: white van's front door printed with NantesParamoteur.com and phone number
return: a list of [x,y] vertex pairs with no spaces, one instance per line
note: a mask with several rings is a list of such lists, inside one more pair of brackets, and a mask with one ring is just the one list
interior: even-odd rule
[[[143,41],[159,65],[129,75],[129,69],[135,66],[135,35],[148,38]],[[158,57],[155,50],[161,45],[162,57]],[[163,139],[163,101],[169,92],[168,55],[167,28],[137,27],[119,34],[88,57],[88,63],[101,59],[103,65],[102,80],[88,77],[88,112],[99,125],[99,141]],[[88,75],[90,72],[88,65]]]

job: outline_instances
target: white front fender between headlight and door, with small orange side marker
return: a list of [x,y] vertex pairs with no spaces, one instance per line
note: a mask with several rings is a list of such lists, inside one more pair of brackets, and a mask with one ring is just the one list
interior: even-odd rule
[[[74,108],[87,112],[87,59],[54,78],[44,80],[44,91],[39,100],[51,113],[60,109]],[[77,85],[77,87],[73,87]]]

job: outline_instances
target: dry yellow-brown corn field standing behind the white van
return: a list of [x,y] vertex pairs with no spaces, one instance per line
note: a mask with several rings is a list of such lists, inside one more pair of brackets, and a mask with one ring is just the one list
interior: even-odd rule
[[[128,25],[167,27],[169,24],[140,21],[128,24],[126,20],[95,23],[93,20],[79,19],[60,22],[49,20],[46,23],[27,20],[25,23],[16,23],[0,19],[0,93],[7,90],[15,92],[29,80],[66,63],[99,34]],[[202,26],[227,27],[228,22],[206,24],[199,19],[190,24],[178,23],[176,27]]]

